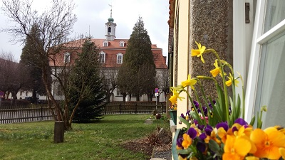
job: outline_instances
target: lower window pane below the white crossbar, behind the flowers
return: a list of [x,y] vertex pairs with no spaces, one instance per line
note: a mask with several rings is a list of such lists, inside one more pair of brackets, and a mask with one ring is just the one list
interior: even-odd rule
[[261,50],[254,114],[260,113],[261,106],[266,105],[264,127],[282,126],[285,122],[285,32],[262,45]]

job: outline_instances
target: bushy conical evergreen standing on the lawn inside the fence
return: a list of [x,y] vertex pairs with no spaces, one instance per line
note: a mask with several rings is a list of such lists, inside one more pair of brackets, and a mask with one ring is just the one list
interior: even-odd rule
[[89,37],[83,43],[82,52],[78,53],[68,80],[67,98],[73,122],[90,122],[102,116],[106,93],[98,59],[98,50]]

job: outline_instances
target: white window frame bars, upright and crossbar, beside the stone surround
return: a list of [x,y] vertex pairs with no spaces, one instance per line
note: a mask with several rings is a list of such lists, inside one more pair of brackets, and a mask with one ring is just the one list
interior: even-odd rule
[[256,18],[254,22],[254,33],[252,38],[252,52],[249,63],[249,76],[247,79],[247,94],[246,94],[246,110],[245,116],[247,122],[254,115],[255,101],[257,100],[257,83],[259,76],[259,65],[261,46],[271,38],[285,31],[285,20],[271,28],[263,34],[264,16],[266,12],[266,0],[257,1]]

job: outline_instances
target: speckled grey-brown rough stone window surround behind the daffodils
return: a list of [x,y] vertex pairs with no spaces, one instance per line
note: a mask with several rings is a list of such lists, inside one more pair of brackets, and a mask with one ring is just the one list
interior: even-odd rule
[[[214,48],[222,60],[232,64],[232,1],[231,0],[192,0],[190,2],[190,48],[197,48],[195,41]],[[212,77],[210,70],[214,69],[213,53],[204,53],[205,63],[200,58],[190,58],[190,74]],[[219,83],[222,78],[217,76]],[[214,82],[202,80],[206,94],[217,97]],[[199,92],[199,91],[198,91]],[[200,92],[199,92],[200,94]]]

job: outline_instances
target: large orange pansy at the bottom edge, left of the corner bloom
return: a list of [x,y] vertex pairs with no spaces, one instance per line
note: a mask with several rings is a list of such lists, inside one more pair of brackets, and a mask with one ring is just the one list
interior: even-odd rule
[[222,159],[244,159],[252,148],[249,140],[242,137],[234,137],[227,135],[226,143],[224,144],[224,154]]

